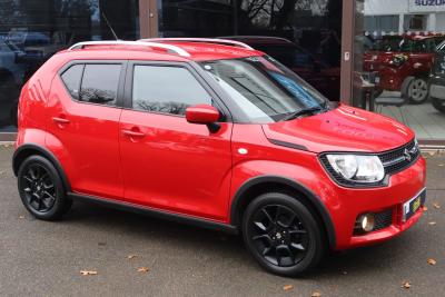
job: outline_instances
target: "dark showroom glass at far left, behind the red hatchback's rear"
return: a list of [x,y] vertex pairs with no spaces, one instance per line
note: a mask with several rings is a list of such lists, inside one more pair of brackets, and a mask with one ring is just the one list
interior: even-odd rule
[[0,132],[17,130],[27,79],[55,52],[85,40],[139,38],[137,0],[0,0]]

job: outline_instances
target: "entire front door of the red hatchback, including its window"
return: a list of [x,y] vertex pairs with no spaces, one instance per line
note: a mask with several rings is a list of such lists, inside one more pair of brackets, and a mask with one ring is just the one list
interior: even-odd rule
[[187,65],[134,62],[127,73],[119,132],[126,200],[224,220],[231,123],[210,132],[185,118],[188,106],[216,106],[215,97]]

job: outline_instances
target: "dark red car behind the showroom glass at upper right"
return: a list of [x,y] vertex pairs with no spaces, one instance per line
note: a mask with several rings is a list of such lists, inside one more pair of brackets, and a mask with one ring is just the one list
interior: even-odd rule
[[[378,71],[380,89],[404,91],[411,103],[423,103],[428,99],[428,77],[436,46],[444,39],[442,34],[384,36],[364,55],[364,70]],[[412,78],[411,83],[404,83]],[[402,86],[407,90],[402,90]]]

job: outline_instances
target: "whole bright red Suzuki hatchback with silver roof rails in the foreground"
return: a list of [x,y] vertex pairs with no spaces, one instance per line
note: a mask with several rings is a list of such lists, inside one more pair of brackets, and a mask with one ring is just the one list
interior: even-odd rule
[[425,201],[414,133],[328,102],[230,40],[82,42],[49,59],[19,103],[13,171],[52,220],[76,199],[239,232],[271,273],[389,239]]

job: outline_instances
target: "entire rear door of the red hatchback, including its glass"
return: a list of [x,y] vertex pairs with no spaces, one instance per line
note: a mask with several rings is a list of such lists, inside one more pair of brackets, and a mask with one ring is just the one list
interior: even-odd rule
[[52,82],[47,146],[76,192],[123,196],[118,136],[126,65],[76,61]]

